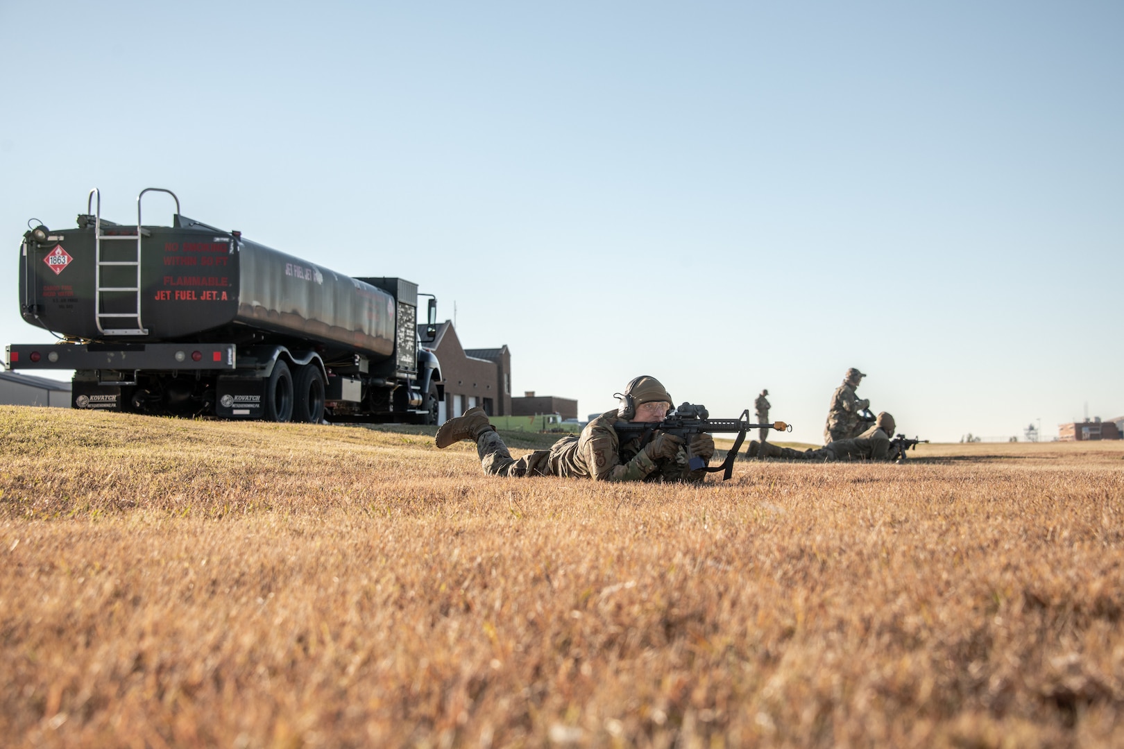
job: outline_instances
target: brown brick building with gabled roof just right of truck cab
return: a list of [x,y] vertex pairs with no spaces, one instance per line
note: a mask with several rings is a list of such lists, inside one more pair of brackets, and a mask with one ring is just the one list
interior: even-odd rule
[[423,346],[441,362],[445,398],[437,409],[438,423],[477,405],[488,415],[510,415],[511,354],[507,346],[465,350],[452,320],[438,325],[436,337]]

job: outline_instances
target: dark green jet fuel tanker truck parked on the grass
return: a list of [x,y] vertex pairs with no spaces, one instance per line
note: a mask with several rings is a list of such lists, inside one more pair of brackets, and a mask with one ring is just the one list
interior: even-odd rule
[[[146,193],[172,226],[140,220]],[[31,226],[36,223],[36,226]],[[74,369],[71,404],[266,421],[436,423],[436,299],[405,278],[350,277],[137,195],[137,222],[36,219],[19,254],[24,319],[56,345],[8,346],[11,369]],[[417,322],[418,298],[427,321]]]

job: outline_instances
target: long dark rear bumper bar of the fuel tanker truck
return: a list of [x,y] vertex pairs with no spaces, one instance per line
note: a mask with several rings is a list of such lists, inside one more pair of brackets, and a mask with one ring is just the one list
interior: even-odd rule
[[12,369],[234,369],[234,344],[12,344]]

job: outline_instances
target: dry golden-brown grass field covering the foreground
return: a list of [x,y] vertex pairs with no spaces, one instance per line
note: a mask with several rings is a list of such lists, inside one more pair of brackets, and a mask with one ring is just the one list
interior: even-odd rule
[[3,745],[1124,745],[1124,442],[660,486],[432,432],[0,408]]

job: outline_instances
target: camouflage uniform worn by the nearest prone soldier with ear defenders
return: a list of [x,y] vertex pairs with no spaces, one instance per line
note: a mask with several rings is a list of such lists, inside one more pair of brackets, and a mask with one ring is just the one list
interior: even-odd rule
[[[687,469],[686,453],[674,459],[652,460],[640,437],[624,445],[613,428],[617,410],[607,411],[586,424],[580,436],[569,435],[549,450],[535,450],[518,460],[511,457],[495,431],[477,439],[477,454],[484,473],[496,476],[562,476],[593,481],[701,481],[705,471]],[[710,456],[704,456],[709,460]]]

